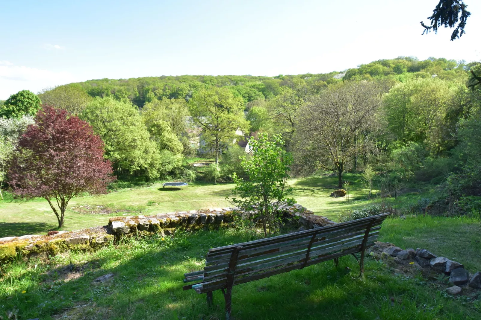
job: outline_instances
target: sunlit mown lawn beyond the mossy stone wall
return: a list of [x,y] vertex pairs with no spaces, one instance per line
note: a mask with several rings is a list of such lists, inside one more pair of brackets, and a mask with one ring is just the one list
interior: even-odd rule
[[[316,214],[335,220],[340,210],[361,208],[369,203],[365,200],[367,191],[358,181],[358,176],[346,174],[345,179],[353,184],[349,203],[345,198],[329,197],[329,194],[337,189],[335,177],[293,179],[289,181],[293,187],[291,197]],[[182,187],[181,190],[172,190],[172,188],[162,188],[158,183],[147,187],[121,189],[101,196],[76,197],[69,202],[63,230],[105,225],[110,217],[123,214],[152,215],[172,211],[228,207],[230,204],[225,198],[231,195],[230,190],[233,187],[233,184],[212,185],[195,182]],[[149,202],[158,205],[148,205]],[[85,205],[93,209],[82,210],[83,212],[71,209],[72,207],[78,209],[79,206]],[[97,206],[107,207],[114,212],[100,214]],[[128,213],[124,211],[126,209],[129,210]],[[120,212],[115,212],[116,210]],[[26,202],[0,201],[0,237],[45,234],[56,228],[57,218],[44,199]]]

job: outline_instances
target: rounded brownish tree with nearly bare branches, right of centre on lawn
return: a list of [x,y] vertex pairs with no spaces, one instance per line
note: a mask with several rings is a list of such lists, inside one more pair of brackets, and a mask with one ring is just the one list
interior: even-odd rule
[[330,86],[300,111],[298,152],[311,165],[335,172],[340,188],[348,164],[370,145],[368,133],[376,127],[380,92],[372,82]]

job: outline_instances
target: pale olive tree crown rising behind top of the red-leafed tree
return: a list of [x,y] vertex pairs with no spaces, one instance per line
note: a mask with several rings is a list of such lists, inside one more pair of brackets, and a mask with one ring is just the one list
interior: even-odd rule
[[87,91],[78,84],[47,89],[39,97],[44,104],[66,110],[72,114],[81,113],[92,100]]

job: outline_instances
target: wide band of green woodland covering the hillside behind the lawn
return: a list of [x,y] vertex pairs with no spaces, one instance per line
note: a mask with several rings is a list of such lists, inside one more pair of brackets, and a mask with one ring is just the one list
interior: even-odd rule
[[[126,177],[193,179],[184,159],[195,155],[201,133],[216,163],[220,156],[213,168],[225,179],[242,176],[244,153],[232,146],[241,129],[254,138],[282,134],[293,175],[329,171],[342,187],[344,172],[372,172],[366,181],[383,196],[430,184],[444,204],[468,210],[481,203],[476,70],[476,63],[399,57],[329,74],[89,80],[38,98],[88,121],[114,171]],[[14,100],[3,102],[2,121],[25,126]],[[5,136],[19,130],[10,131]]]

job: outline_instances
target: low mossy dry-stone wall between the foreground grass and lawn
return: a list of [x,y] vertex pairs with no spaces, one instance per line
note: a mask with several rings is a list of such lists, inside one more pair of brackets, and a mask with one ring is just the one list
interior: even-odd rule
[[[228,227],[234,224],[237,208],[211,208],[179,211],[153,216],[114,217],[108,225],[76,231],[51,231],[47,235],[28,234],[19,237],[0,238],[0,263],[21,258],[45,258],[60,252],[95,250],[125,236],[159,233],[173,234],[176,229],[199,230]],[[316,216],[303,206],[280,206],[287,217],[299,217],[300,230],[329,225],[335,222]]]

